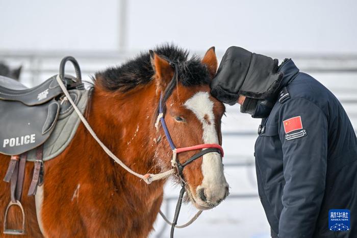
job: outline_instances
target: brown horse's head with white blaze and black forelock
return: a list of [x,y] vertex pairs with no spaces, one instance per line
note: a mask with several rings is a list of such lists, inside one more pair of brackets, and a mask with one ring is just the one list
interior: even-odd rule
[[[221,144],[221,118],[225,107],[210,94],[210,82],[217,70],[214,47],[202,60],[171,60],[165,52],[150,51],[153,80],[161,95],[163,117],[176,148],[200,144]],[[156,132],[155,159],[166,169],[171,167],[172,146],[163,126]],[[177,154],[184,164],[197,150]],[[182,179],[189,200],[198,209],[218,205],[228,195],[228,183],[223,174],[221,154],[210,152],[187,165]]]

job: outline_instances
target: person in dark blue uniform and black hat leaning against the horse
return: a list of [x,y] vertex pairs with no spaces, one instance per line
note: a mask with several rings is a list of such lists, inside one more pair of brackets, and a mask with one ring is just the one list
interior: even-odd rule
[[[254,155],[271,236],[357,237],[357,139],[338,99],[291,59],[278,66],[235,46],[211,89],[262,118]],[[345,219],[336,224],[342,211]]]

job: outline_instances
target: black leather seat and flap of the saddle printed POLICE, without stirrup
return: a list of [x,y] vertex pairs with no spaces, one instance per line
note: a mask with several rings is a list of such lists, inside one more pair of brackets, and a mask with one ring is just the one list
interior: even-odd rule
[[57,76],[63,79],[68,90],[83,89],[77,68],[77,77],[64,75],[64,65],[61,69],[59,75],[30,89],[0,76],[0,153],[18,155],[48,139],[60,111],[69,107],[69,103],[61,105],[64,98]]

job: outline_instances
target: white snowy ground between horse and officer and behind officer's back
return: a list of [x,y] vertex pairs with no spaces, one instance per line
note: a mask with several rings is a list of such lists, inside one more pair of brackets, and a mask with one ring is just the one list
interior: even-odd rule
[[[343,102],[354,128],[357,129],[357,73],[312,75]],[[351,99],[354,103],[348,102]],[[232,198],[228,197],[213,210],[204,211],[191,226],[175,229],[175,237],[270,237],[269,224],[257,196],[256,173],[253,165],[253,146],[260,120],[240,114],[238,106],[227,106],[226,115],[222,124],[224,164]],[[233,132],[243,135],[224,136],[225,133]],[[242,164],[247,166],[241,166]],[[172,183],[168,182],[165,197],[170,200],[164,202],[162,210],[170,219],[173,217],[176,204],[173,198],[178,194],[179,188],[173,188]],[[240,198],[239,195],[248,195],[248,198]],[[187,222],[195,213],[196,209],[192,205],[183,205],[179,224]],[[160,216],[155,223],[155,229],[155,232],[150,235],[151,238],[169,236],[170,228],[165,225]]]

